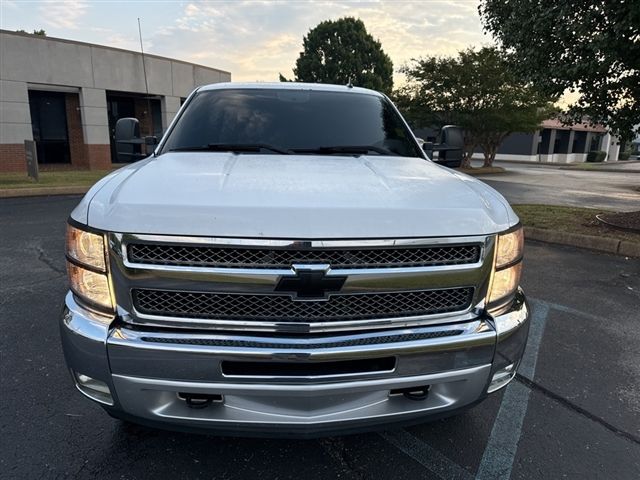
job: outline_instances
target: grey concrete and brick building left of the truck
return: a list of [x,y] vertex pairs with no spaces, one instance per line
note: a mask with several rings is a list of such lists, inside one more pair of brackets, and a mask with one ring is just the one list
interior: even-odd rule
[[140,120],[162,135],[198,85],[231,74],[156,55],[0,30],[0,172],[26,171],[25,140],[43,168],[108,169],[114,127]]

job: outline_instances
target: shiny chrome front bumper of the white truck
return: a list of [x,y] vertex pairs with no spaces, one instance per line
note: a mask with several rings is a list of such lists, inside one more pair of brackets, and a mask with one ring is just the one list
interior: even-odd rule
[[[510,309],[494,318],[296,338],[132,328],[84,309],[69,294],[60,325],[76,386],[114,416],[224,434],[315,436],[427,420],[476,404],[494,375],[502,372],[506,379],[497,387],[513,378],[529,311],[519,291]],[[393,357],[395,366],[284,377],[225,375],[221,368],[229,361],[312,364],[382,357]],[[79,381],[87,377],[108,393],[95,394]],[[392,392],[419,386],[429,386],[421,400]],[[222,401],[193,408],[182,398],[185,392]]]

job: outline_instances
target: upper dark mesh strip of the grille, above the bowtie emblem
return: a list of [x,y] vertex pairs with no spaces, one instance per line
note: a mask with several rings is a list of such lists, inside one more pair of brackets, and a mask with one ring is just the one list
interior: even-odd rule
[[370,249],[263,249],[193,245],[128,245],[129,261],[149,265],[223,268],[290,268],[294,263],[331,268],[426,267],[476,263],[478,245]]

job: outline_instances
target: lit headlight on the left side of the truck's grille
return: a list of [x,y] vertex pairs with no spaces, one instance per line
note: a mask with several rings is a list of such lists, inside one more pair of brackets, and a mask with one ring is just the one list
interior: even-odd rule
[[67,226],[67,272],[71,291],[89,306],[113,311],[104,236]]

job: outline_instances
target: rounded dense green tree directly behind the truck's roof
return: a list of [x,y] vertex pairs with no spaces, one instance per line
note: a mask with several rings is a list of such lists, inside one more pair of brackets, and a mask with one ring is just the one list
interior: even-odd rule
[[[320,22],[304,37],[303,49],[293,69],[298,82],[351,82],[385,93],[393,88],[393,63],[362,20]],[[287,79],[280,75],[280,81]]]

